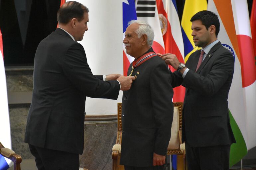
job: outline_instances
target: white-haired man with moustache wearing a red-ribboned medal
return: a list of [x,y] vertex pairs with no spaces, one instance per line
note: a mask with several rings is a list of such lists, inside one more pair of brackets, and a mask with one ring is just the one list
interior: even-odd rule
[[131,21],[125,31],[126,53],[135,58],[128,75],[136,77],[122,99],[120,164],[125,170],[161,170],[171,137],[173,89],[165,62],[152,49],[154,31]]

